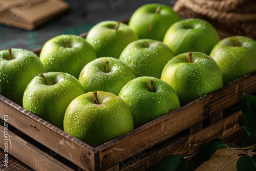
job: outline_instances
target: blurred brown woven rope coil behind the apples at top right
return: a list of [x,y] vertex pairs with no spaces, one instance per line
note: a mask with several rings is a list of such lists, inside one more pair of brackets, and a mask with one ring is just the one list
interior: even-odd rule
[[255,0],[178,0],[173,8],[183,18],[202,18],[220,30],[256,39]]

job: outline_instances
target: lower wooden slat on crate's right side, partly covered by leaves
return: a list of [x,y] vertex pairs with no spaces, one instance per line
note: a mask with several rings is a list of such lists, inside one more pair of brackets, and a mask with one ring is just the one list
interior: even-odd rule
[[[137,159],[138,157],[134,157],[130,159],[130,162],[128,161],[123,165],[120,164],[119,170],[147,170],[169,155],[180,154],[183,157],[190,156],[198,151],[201,144],[214,138],[220,138],[226,142],[243,129],[239,124],[240,115],[241,111],[234,113],[193,135],[179,136],[159,147],[160,149],[156,148],[141,156],[140,160]],[[139,154],[137,154],[137,156],[138,155]]]

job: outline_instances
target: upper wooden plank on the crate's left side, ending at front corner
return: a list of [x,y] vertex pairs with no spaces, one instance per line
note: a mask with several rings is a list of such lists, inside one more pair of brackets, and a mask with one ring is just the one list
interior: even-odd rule
[[68,135],[0,95],[0,118],[24,132],[62,157],[87,170],[97,170],[98,152],[88,144]]

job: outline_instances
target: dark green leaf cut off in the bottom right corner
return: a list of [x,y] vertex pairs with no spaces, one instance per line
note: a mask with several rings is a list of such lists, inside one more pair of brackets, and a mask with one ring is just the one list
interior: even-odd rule
[[237,170],[256,170],[256,155],[240,157],[237,161]]

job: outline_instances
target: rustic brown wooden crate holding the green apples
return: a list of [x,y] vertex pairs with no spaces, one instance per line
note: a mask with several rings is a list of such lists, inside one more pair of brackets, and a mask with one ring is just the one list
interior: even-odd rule
[[[255,82],[256,72],[245,75],[96,148],[68,135],[2,95],[0,118],[4,119],[7,115],[8,124],[68,159],[77,166],[77,170],[141,170],[170,154],[188,156],[195,153],[202,143],[213,138],[230,139],[243,130],[239,124],[241,111],[230,112],[230,106],[239,103],[243,93],[255,93]],[[218,119],[216,116],[223,117]],[[1,131],[4,131],[3,126]],[[27,141],[11,130],[8,133],[9,153],[33,169],[72,170],[30,143],[31,140]],[[175,138],[155,147],[170,136]],[[4,149],[2,143],[0,146]]]

